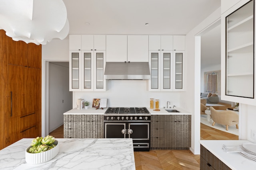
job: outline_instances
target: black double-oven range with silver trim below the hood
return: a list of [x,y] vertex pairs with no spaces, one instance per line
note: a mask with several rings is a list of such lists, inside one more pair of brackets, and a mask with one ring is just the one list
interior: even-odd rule
[[134,151],[150,150],[150,113],[146,107],[109,107],[104,113],[105,138],[132,138]]

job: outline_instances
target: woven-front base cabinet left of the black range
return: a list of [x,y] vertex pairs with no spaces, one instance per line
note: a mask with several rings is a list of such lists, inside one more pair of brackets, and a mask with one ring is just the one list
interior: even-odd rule
[[64,138],[104,138],[103,115],[64,115]]

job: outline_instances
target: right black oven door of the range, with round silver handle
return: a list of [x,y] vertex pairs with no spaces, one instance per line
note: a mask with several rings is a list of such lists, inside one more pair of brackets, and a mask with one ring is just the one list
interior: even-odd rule
[[[150,123],[128,123],[128,135],[133,140],[149,140],[150,137]],[[129,129],[132,133],[129,133]]]

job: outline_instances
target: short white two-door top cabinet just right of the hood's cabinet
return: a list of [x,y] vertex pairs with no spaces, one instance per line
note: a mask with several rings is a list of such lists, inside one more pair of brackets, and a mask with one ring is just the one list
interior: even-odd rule
[[172,50],[173,36],[172,35],[149,35],[148,36],[149,50]]

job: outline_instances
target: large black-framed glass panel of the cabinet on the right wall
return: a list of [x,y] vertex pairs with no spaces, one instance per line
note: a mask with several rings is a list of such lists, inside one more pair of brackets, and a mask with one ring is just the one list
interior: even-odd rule
[[254,98],[254,0],[226,20],[226,95]]

